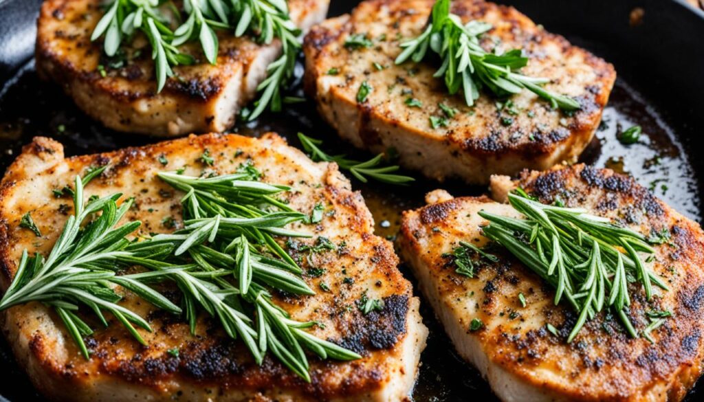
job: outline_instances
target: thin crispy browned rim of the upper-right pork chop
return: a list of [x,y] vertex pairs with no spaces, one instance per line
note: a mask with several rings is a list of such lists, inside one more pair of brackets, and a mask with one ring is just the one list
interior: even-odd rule
[[[429,5],[434,3],[434,0],[426,0]],[[383,6],[389,6],[391,10],[394,10],[396,14],[402,14],[405,12],[401,4],[401,0],[368,0],[365,3],[372,3],[378,8]],[[515,29],[525,29],[533,25],[532,20],[530,20],[526,15],[520,13],[515,8],[511,6],[497,5],[491,2],[486,2],[483,0],[455,0],[452,3],[452,12],[458,14],[462,17],[472,16],[472,18],[481,18],[482,15],[486,13],[490,8],[496,8],[503,14],[504,19],[510,21]],[[316,88],[318,79],[325,75],[325,71],[315,68],[317,64],[316,61],[320,58],[325,58],[329,55],[329,51],[326,49],[327,45],[336,42],[339,37],[347,32],[352,32],[354,30],[353,21],[350,20],[351,15],[346,14],[340,17],[334,18],[337,22],[341,23],[339,29],[335,26],[335,29],[330,29],[325,23],[321,25],[316,25],[313,29],[308,32],[306,38],[303,41],[303,51],[306,54],[306,73],[304,76],[304,88],[306,94],[316,101],[318,99],[318,94],[316,93]],[[328,20],[329,21],[329,20]],[[530,28],[534,30],[534,28]],[[582,97],[580,103],[582,103],[582,109],[574,114],[574,119],[570,120],[570,125],[568,129],[570,130],[570,135],[560,138],[559,135],[553,135],[552,133],[548,135],[541,135],[534,142],[523,142],[521,144],[514,144],[512,142],[496,142],[491,138],[480,138],[480,139],[465,139],[464,141],[456,141],[453,136],[448,136],[444,141],[449,143],[454,143],[459,149],[466,152],[475,153],[477,155],[486,156],[497,156],[497,155],[517,155],[523,158],[533,158],[541,155],[546,155],[553,153],[556,148],[560,145],[567,145],[570,143],[577,142],[576,139],[586,138],[584,140],[584,146],[591,139],[599,120],[601,120],[601,113],[603,107],[608,102],[608,98],[616,80],[616,71],[611,63],[604,61],[602,58],[594,56],[589,51],[581,49],[577,46],[572,46],[570,42],[558,34],[552,34],[550,32],[541,31],[539,38],[541,40],[551,40],[558,42],[562,46],[562,51],[565,53],[570,52],[581,52],[585,55],[585,59],[591,67],[598,73],[601,77],[599,82],[601,85],[593,85],[589,88],[589,92],[593,94],[592,98]],[[358,113],[360,114],[361,122],[368,122],[372,118],[377,120],[383,120],[386,125],[398,126],[402,125],[401,120],[395,120],[390,118],[388,115],[382,115],[377,113],[368,103],[350,103],[350,106],[356,107]],[[408,130],[413,130],[415,134],[425,136],[422,130],[418,130],[414,127],[408,127]],[[367,130],[373,131],[373,130]],[[375,134],[366,133],[365,127],[360,127],[360,137],[370,137]]]

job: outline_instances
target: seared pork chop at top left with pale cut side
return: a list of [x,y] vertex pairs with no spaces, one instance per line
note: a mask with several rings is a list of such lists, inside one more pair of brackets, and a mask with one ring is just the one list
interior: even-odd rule
[[[290,0],[291,20],[303,30],[325,18],[329,0]],[[240,108],[256,96],[266,68],[281,52],[278,40],[257,44],[218,30],[217,65],[197,43],[182,46],[194,65],[174,68],[175,76],[156,93],[149,43],[138,38],[129,54],[141,56],[108,68],[101,42],[91,42],[100,20],[100,0],[49,0],[37,22],[37,71],[61,84],[92,118],[114,130],[172,137],[190,132],[222,132]],[[144,48],[144,49],[142,49]],[[142,50],[139,50],[142,49]]]

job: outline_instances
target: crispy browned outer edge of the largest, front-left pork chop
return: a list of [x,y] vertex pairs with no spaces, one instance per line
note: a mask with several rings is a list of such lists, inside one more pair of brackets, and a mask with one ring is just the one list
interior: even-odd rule
[[[72,165],[81,166],[91,165],[92,163],[105,165],[112,161],[113,167],[115,168],[130,168],[130,163],[135,158],[142,158],[144,156],[153,156],[156,158],[158,153],[161,152],[160,147],[163,145],[184,143],[183,146],[193,146],[194,144],[196,146],[208,146],[218,142],[226,142],[228,137],[238,137],[242,141],[258,141],[258,139],[243,137],[237,134],[202,134],[199,136],[191,134],[189,137],[182,139],[165,141],[148,146],[128,147],[113,152],[74,156],[66,158],[66,161]],[[275,133],[265,134],[263,138],[279,140],[285,144],[285,140]],[[23,147],[22,154],[34,153],[38,156],[46,154],[51,157],[52,154],[61,151],[61,149],[52,148],[52,146],[56,146],[57,144],[58,143],[54,142],[52,139],[36,137],[32,143]],[[301,156],[303,157],[303,153],[301,153]],[[329,169],[329,175],[334,176],[332,180],[337,180],[339,177],[337,165],[331,164],[329,165]],[[329,175],[328,177],[330,177]],[[13,163],[0,182],[0,204],[4,196],[6,196],[8,189],[10,189],[15,184],[15,180],[18,180],[18,177],[21,176],[18,167]],[[359,191],[351,191],[332,185],[329,185],[329,188],[331,189],[331,195],[341,204],[356,211],[353,220],[355,223],[350,229],[355,231],[362,230],[365,226],[363,221],[368,219],[367,217],[370,217],[370,213],[363,203]],[[362,328],[362,330],[356,334],[358,336],[342,339],[342,346],[360,351],[364,355],[365,353],[374,353],[375,351],[381,353],[392,351],[400,344],[400,340],[408,334],[408,325],[410,325],[408,312],[413,308],[412,303],[417,303],[417,301],[413,302],[415,298],[413,298],[410,284],[408,284],[408,281],[403,278],[396,268],[398,265],[398,257],[396,253],[394,253],[391,243],[369,232],[363,233],[363,239],[365,239],[365,241],[377,241],[379,243],[374,247],[377,253],[375,262],[379,264],[379,269],[382,270],[382,272],[396,270],[398,277],[401,278],[403,282],[406,282],[406,294],[396,294],[386,298],[385,302],[388,308],[385,308],[384,312],[370,313],[369,318],[372,318],[372,320],[362,320],[362,318],[358,318],[358,321],[360,321],[358,322],[358,327]],[[7,249],[10,240],[8,235],[8,222],[0,215],[0,284],[2,284],[4,289],[6,289],[9,282],[11,282],[13,272],[16,269],[15,262],[8,258]],[[5,315],[0,314],[0,324],[3,327],[5,325],[4,320]],[[39,391],[42,391],[42,394],[57,400],[72,399],[72,395],[83,396],[84,399],[84,395],[80,389],[80,384],[82,384],[84,377],[83,374],[71,370],[71,368],[54,364],[51,360],[51,353],[51,345],[45,344],[41,334],[36,334],[30,341],[30,355],[18,356],[18,351],[15,350],[15,356],[18,356],[20,364],[30,371],[32,382],[38,387]],[[168,356],[153,360],[149,367],[145,365],[138,366],[129,364],[127,366],[117,365],[117,367],[115,367],[115,364],[113,364],[113,370],[110,370],[109,364],[104,364],[111,363],[110,361],[101,361],[101,370],[105,370],[106,372],[100,375],[113,375],[114,379],[118,380],[118,384],[121,383],[125,386],[138,387],[138,389],[143,389],[150,393],[156,392],[157,394],[160,392],[160,382],[163,380],[163,377],[160,376],[167,375],[170,376],[168,380],[176,380],[185,384],[185,389],[199,389],[201,387],[208,387],[208,385],[222,386],[226,389],[239,391],[249,390],[251,392],[251,398],[258,401],[270,401],[269,397],[272,396],[270,394],[284,394],[293,396],[294,400],[301,398],[301,400],[313,401],[327,398],[348,400],[348,398],[354,398],[355,395],[361,398],[381,389],[383,384],[388,383],[386,376],[390,374],[381,372],[377,368],[368,370],[368,368],[363,365],[363,360],[353,360],[346,363],[331,362],[329,360],[313,360],[310,362],[310,373],[313,381],[306,383],[303,379],[292,374],[289,370],[284,368],[283,365],[275,362],[270,357],[265,358],[264,364],[261,367],[254,369],[245,367],[243,372],[239,366],[234,365],[233,367],[232,362],[228,363],[229,360],[227,360],[227,356],[232,356],[230,353],[246,354],[246,351],[244,351],[244,348],[239,342],[230,339],[218,339],[215,343],[205,345],[197,344],[192,351],[187,351],[182,359],[180,359],[182,363],[179,367],[184,365],[183,362],[188,362],[195,370],[205,372],[206,375],[204,377],[194,378],[184,375],[179,371],[174,372],[173,361],[168,358]],[[190,358],[193,358],[193,360],[189,360]],[[30,361],[30,359],[34,361]],[[113,363],[122,363],[122,360]],[[339,387],[326,387],[329,383],[325,381],[325,377],[328,375],[334,377],[336,366],[339,364],[353,365],[353,367],[356,367],[356,369],[353,370],[354,375],[344,379],[344,381],[339,384]],[[34,370],[41,370],[41,372],[32,372],[30,366],[33,366]],[[215,373],[215,375],[208,377],[208,372]],[[222,372],[225,372],[225,375],[222,375]],[[172,374],[175,374],[175,377]],[[415,375],[417,375],[417,372]],[[87,379],[90,380],[90,377]],[[60,394],[54,394],[56,392]]]

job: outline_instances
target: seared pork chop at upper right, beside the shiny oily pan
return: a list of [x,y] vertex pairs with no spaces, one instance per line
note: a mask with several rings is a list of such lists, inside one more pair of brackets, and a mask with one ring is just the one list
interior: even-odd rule
[[[326,20],[308,34],[306,90],[340,136],[373,152],[394,148],[402,165],[428,177],[479,184],[489,182],[492,174],[543,170],[579,156],[608,101],[615,80],[612,65],[546,32],[515,8],[455,0],[451,12],[464,23],[494,25],[482,40],[487,50],[524,49],[529,56],[525,75],[550,79],[546,89],[572,96],[582,106],[567,115],[524,91],[510,102],[483,93],[468,108],[463,96],[448,95],[444,81],[432,77],[439,65],[394,65],[401,53],[398,45],[423,32],[433,4],[363,1],[351,15]],[[372,89],[359,101],[364,85]],[[448,115],[452,109],[456,112]]]

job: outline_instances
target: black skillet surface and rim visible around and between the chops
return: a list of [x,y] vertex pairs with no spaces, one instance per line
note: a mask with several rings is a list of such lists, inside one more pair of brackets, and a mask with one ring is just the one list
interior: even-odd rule
[[[704,158],[697,151],[704,144],[699,132],[704,127],[704,13],[674,0],[503,2],[616,66],[619,80],[597,138],[582,161],[634,175],[678,211],[702,222]],[[39,82],[31,56],[40,3],[0,0],[0,172],[34,135],[58,139],[68,155],[156,142],[101,127],[78,111],[54,84]],[[332,3],[330,15],[339,15],[349,11],[356,1]],[[636,8],[643,11],[640,19],[631,18],[640,13],[634,12]],[[293,90],[299,91],[300,86]],[[325,138],[326,146],[334,151],[348,151],[313,110],[312,104],[303,103],[285,113],[264,115],[256,123],[238,124],[233,131],[258,135],[273,130],[288,137],[294,146],[298,145],[296,132],[303,131]],[[639,144],[622,146],[615,138],[616,132],[633,124],[643,126],[645,135]],[[365,157],[363,153],[358,156]],[[440,186],[419,180],[410,187],[394,188],[389,194],[388,186],[353,182],[375,215],[377,233],[389,238],[398,228],[399,211],[420,206],[423,194]],[[441,187],[455,195],[477,195],[484,190],[457,182]],[[413,280],[407,270],[401,269]],[[422,355],[415,400],[496,400],[477,371],[456,356],[426,303],[421,313],[430,337]],[[0,340],[0,394],[13,402],[43,400],[14,363],[4,339]],[[701,400],[703,381],[687,398],[688,402]]]

